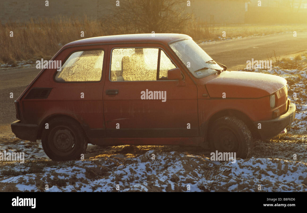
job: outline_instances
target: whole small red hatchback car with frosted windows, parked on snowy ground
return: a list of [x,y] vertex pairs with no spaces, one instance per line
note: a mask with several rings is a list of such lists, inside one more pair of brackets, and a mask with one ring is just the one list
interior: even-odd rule
[[210,145],[246,158],[253,139],[295,118],[284,78],[227,71],[183,34],[77,40],[37,65],[11,128],[53,160],[80,158],[87,143]]

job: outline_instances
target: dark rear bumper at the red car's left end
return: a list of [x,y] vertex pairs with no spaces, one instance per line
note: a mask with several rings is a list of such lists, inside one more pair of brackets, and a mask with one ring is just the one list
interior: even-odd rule
[[11,124],[12,132],[16,137],[28,141],[36,141],[38,125],[36,124],[24,124],[20,123],[20,120],[16,120]]

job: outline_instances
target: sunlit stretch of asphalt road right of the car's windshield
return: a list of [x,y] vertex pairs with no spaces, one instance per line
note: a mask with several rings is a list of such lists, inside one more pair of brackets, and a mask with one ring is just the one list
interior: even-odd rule
[[[293,34],[276,34],[243,38],[237,40],[210,42],[200,45],[215,61],[236,70],[245,65],[247,60],[268,60],[276,56],[289,55],[307,49],[307,32]],[[274,63],[273,63],[274,66]]]

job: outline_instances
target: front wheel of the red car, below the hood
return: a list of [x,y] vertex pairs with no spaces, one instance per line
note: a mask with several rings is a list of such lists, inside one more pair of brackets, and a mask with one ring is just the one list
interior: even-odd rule
[[247,125],[234,116],[215,120],[208,135],[212,151],[236,152],[236,157],[247,158],[252,153],[253,138]]

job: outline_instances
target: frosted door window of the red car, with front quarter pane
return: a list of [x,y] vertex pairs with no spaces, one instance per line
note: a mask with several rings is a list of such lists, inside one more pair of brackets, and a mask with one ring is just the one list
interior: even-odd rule
[[[159,48],[116,48],[112,50],[110,80],[162,80],[167,79],[167,71],[173,68],[176,66]],[[159,73],[158,79],[157,73]]]

